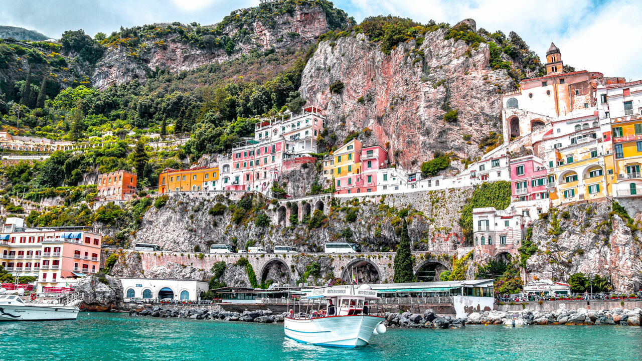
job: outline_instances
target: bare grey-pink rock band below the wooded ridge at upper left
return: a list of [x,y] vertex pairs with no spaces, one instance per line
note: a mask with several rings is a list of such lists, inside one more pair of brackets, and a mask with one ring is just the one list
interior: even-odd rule
[[[238,16],[241,15],[242,13]],[[216,24],[205,28],[216,28]],[[233,60],[255,49],[278,51],[291,46],[302,46],[329,30],[331,25],[324,9],[304,4],[295,7],[291,13],[273,16],[269,22],[260,19],[243,25],[229,22],[223,26],[219,36],[235,39],[232,52],[226,52],[223,48],[200,48],[182,41],[178,35],[145,39],[143,45],[139,46],[144,50],[138,51],[135,56],[131,55],[132,50],[126,46],[110,46],[96,64],[91,82],[92,85],[105,89],[109,85],[127,83],[136,78],[144,80],[150,71],[157,68],[178,73],[205,64]],[[240,31],[243,32],[242,35]]]

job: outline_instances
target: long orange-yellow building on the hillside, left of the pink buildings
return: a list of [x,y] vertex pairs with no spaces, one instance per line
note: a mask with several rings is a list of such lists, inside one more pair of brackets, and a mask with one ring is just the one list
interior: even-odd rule
[[166,168],[159,175],[159,193],[178,191],[214,191],[218,184],[218,167],[186,170]]

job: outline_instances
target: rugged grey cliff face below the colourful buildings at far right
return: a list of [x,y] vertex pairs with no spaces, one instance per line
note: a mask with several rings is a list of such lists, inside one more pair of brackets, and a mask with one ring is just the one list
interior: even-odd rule
[[529,278],[568,280],[582,272],[610,276],[615,290],[642,285],[642,233],[610,211],[608,203],[578,204],[534,222],[532,241],[539,251],[526,263]]

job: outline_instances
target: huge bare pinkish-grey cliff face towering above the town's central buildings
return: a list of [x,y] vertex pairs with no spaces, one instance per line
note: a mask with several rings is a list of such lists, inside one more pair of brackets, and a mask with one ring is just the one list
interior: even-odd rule
[[[510,91],[512,80],[506,70],[490,69],[488,44],[467,55],[469,46],[445,40],[446,31],[426,33],[421,46],[401,43],[390,55],[363,34],[321,42],[304,69],[300,92],[326,109],[338,139],[370,128],[365,143],[390,142],[392,161],[404,169],[417,169],[435,150],[480,155],[475,143],[499,131],[499,91]],[[338,81],[344,88],[334,94],[329,87]],[[458,121],[444,121],[448,106],[458,110]],[[473,144],[466,144],[465,134]]]

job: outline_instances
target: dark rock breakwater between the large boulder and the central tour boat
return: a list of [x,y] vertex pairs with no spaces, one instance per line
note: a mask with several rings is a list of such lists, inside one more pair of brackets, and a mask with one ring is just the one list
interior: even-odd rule
[[288,313],[273,313],[270,310],[244,312],[227,312],[223,310],[208,310],[207,308],[150,308],[131,309],[130,316],[150,316],[173,319],[221,320],[239,322],[274,323],[283,322]]

